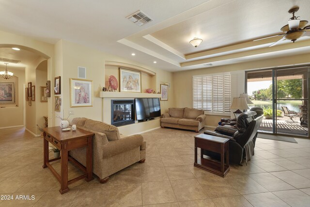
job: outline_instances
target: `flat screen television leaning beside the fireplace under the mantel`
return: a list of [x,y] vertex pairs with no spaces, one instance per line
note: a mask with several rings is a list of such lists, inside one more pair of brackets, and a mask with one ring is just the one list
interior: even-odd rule
[[159,98],[136,98],[136,116],[138,121],[145,121],[161,116]]

